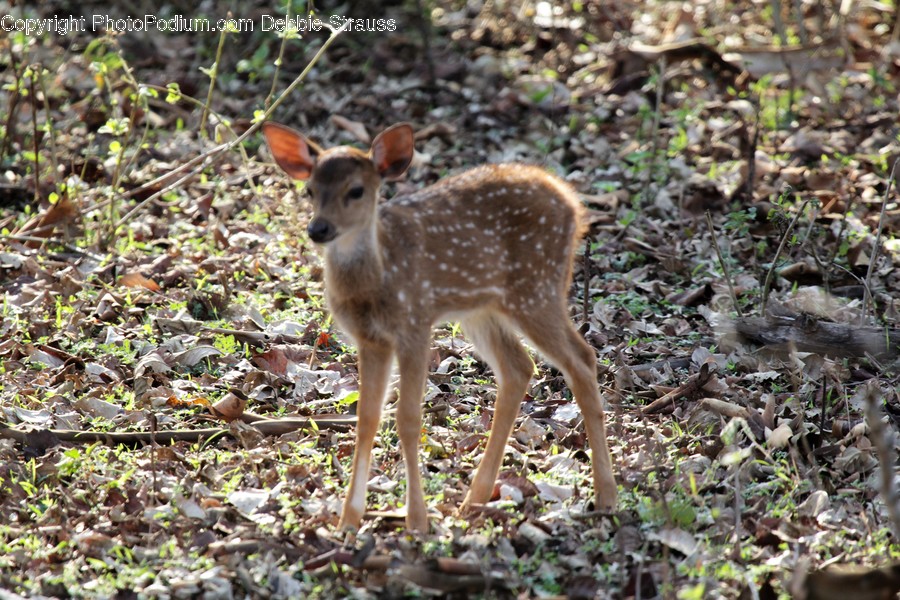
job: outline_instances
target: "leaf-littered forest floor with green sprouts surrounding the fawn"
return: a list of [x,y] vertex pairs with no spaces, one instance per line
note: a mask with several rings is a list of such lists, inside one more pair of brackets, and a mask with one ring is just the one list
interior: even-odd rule
[[[357,3],[396,30],[331,38],[0,39],[4,597],[893,597],[896,10],[425,4]],[[432,532],[398,518],[393,394],[373,510],[335,530],[356,356],[302,192],[258,134],[234,143],[329,39],[273,118],[326,145],[413,123],[386,195],[500,161],[582,194],[572,318],[618,514],[593,512],[580,414],[539,358],[495,500],[456,513],[495,387],[449,324]]]

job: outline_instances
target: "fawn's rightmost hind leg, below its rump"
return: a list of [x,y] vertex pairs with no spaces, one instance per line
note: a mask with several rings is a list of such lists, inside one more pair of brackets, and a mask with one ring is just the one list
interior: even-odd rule
[[596,508],[614,511],[616,480],[606,441],[606,415],[597,384],[597,357],[593,348],[572,327],[562,306],[546,307],[516,319],[522,333],[541,354],[562,371],[584,417],[591,445]]

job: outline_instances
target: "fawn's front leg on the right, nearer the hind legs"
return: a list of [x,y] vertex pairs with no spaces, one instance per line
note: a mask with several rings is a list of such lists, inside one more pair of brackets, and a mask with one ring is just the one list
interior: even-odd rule
[[400,399],[397,403],[397,432],[406,464],[406,526],[412,531],[428,531],[428,512],[419,472],[419,438],[422,435],[422,401],[428,368],[428,343],[398,352]]

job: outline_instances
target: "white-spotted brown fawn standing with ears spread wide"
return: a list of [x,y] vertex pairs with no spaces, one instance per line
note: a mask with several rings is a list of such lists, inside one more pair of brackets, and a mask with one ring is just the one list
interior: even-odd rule
[[406,472],[406,527],[426,532],[419,470],[422,404],[433,327],[458,321],[497,381],[493,423],[461,514],[491,500],[506,443],[534,372],[521,334],[563,374],[591,448],[595,503],[616,507],[594,350],[568,316],[572,263],[586,230],[575,191],[525,164],[484,165],[380,202],[382,182],[414,156],[408,123],[368,151],[323,149],[272,121],[262,125],[276,164],[305,182],[309,238],[324,247],[324,287],[335,322],[358,351],[356,446],[339,529],[365,515],[372,449],[396,358],[396,427]]

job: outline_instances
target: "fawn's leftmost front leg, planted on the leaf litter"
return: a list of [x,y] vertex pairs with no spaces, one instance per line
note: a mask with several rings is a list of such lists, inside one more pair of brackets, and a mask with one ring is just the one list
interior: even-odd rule
[[359,400],[356,404],[356,449],[350,469],[350,490],[341,511],[341,529],[357,528],[366,512],[366,483],[372,446],[381,422],[381,407],[391,371],[389,347],[371,342],[359,344]]

